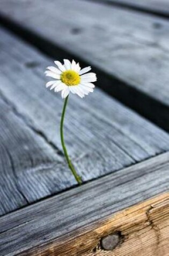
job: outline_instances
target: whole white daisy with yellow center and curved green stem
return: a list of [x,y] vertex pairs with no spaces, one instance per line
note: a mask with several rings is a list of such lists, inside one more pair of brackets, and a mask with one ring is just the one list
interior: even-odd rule
[[[47,82],[46,87],[54,89],[55,92],[62,92],[62,98],[64,99],[64,105],[61,116],[61,143],[64,152],[64,156],[67,160],[68,167],[70,168],[72,174],[74,175],[78,184],[82,184],[82,178],[77,174],[74,165],[72,164],[70,157],[68,155],[67,148],[64,142],[63,135],[63,122],[65,116],[65,109],[67,107],[69,93],[77,94],[80,98],[94,91],[94,85],[92,82],[97,80],[95,73],[87,73],[91,70],[91,67],[80,68],[79,64],[74,60],[64,59],[64,64],[60,61],[55,61],[56,67],[47,67],[45,74],[48,77],[52,77],[55,80]],[[87,74],[86,74],[87,73]]]

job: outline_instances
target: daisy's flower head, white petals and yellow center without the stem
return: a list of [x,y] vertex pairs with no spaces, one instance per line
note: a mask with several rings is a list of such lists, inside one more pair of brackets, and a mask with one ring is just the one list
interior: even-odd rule
[[[71,92],[77,94],[80,98],[93,92],[94,85],[92,82],[97,81],[95,73],[87,73],[91,67],[80,68],[79,64],[72,60],[72,63],[64,59],[64,64],[60,61],[54,61],[56,67],[47,67],[45,74],[55,80],[49,81],[46,87],[55,92],[62,91],[62,98],[66,98]],[[86,74],[87,73],[87,74]]]

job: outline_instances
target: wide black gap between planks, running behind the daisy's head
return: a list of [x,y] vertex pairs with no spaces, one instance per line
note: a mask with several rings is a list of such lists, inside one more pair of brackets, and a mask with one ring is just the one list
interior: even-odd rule
[[[87,0],[88,1],[88,0]],[[46,56],[62,61],[66,59],[76,59],[82,66],[90,66],[76,54],[72,54],[52,41],[43,38],[39,34],[27,29],[26,27],[14,22],[9,17],[0,15],[0,24],[13,32],[19,38],[34,46]],[[113,96],[130,109],[135,110],[138,114],[155,123],[160,128],[169,132],[169,107],[164,103],[152,98],[144,92],[138,91],[137,88],[130,86],[127,82],[116,78],[115,76],[102,71],[98,67],[92,67],[93,72],[97,73],[98,81],[96,85],[107,94]]]

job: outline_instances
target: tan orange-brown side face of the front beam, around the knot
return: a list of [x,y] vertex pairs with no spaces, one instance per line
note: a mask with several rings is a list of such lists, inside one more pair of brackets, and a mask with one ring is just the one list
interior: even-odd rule
[[[101,239],[119,234],[112,251],[104,250]],[[168,256],[169,193],[125,209],[104,222],[61,237],[60,244],[50,244],[18,254],[20,256]]]

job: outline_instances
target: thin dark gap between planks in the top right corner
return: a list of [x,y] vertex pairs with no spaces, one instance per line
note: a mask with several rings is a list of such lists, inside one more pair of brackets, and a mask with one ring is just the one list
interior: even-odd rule
[[155,16],[165,18],[165,19],[169,18],[169,11],[168,12],[167,11],[166,12],[158,11],[158,10],[152,9],[151,7],[146,7],[146,6],[143,7],[143,6],[139,6],[139,5],[136,6],[131,3],[126,3],[123,1],[121,1],[121,2],[116,2],[115,0],[112,0],[112,1],[110,1],[110,0],[84,0],[84,1],[111,5],[111,6],[115,6],[118,8],[133,10],[133,11],[146,13],[146,14],[150,14],[150,15],[155,15]]

